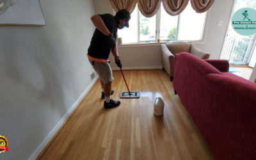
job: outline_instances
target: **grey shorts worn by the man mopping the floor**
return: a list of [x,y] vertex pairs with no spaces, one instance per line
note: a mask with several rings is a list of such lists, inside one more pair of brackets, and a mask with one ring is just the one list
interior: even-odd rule
[[109,83],[114,80],[112,76],[112,69],[108,62],[98,62],[89,60],[94,70],[99,75],[101,81]]

